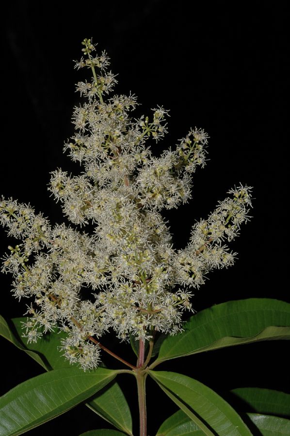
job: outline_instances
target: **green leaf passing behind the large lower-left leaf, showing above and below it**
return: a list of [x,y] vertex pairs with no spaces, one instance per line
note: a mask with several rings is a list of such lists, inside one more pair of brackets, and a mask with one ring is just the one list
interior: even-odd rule
[[[15,318],[12,320],[19,336],[22,334],[21,322],[25,320],[26,318]],[[37,343],[27,343],[26,338],[21,338],[21,341],[28,348],[41,354],[43,360],[47,362],[48,369],[71,368],[69,361],[62,356],[59,350],[61,340],[64,337],[65,333],[63,331],[59,333],[50,332],[44,335],[43,338],[40,338]],[[127,435],[132,435],[132,418],[129,405],[116,381],[101,389],[90,398],[86,405],[119,430]]]

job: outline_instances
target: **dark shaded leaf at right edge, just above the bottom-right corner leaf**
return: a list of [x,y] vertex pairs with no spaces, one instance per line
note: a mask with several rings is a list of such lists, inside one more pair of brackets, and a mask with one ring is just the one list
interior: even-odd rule
[[247,405],[247,410],[253,410],[265,415],[290,417],[290,394],[272,389],[237,388],[231,392]]

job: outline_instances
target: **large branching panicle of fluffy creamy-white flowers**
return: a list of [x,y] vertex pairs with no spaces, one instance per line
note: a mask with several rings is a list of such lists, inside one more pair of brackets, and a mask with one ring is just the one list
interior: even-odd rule
[[[153,157],[147,141],[167,132],[168,111],[157,107],[153,117],[133,119],[135,96],[104,101],[116,83],[107,72],[109,58],[105,52],[94,57],[91,40],[82,44],[85,59],[76,67],[90,68],[93,77],[77,84],[86,101],[74,109],[76,133],[64,150],[83,172],[72,176],[58,169],[49,185],[72,227],[51,228],[29,205],[12,199],[0,202],[0,219],[9,235],[22,238],[9,246],[2,270],[13,274],[17,298],[33,300],[25,335],[37,341],[63,329],[65,356],[91,369],[100,360],[96,342],[110,329],[121,340],[180,330],[182,312],[192,307],[190,288],[203,284],[213,268],[233,264],[236,253],[224,241],[249,219],[251,189],[229,191],[207,220],[193,225],[188,246],[174,249],[161,209],[190,199],[193,172],[205,165],[208,135],[191,129],[174,150]],[[88,223],[93,234],[78,227]]]

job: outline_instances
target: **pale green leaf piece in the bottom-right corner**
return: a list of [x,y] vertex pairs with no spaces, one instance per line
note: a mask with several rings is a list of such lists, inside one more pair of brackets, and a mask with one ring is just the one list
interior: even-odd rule
[[290,435],[290,420],[276,416],[259,415],[258,413],[248,413],[247,415],[262,436]]

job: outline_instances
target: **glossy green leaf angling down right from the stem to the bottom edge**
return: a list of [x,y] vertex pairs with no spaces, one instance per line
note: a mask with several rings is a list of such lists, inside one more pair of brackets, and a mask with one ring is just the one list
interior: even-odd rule
[[252,435],[237,412],[216,392],[199,381],[166,371],[148,373],[206,435]]

